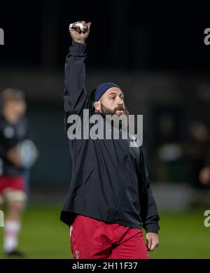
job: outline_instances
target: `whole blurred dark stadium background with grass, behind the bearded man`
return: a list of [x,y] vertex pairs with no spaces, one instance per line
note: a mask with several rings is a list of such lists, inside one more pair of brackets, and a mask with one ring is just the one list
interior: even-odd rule
[[[59,221],[71,176],[62,90],[69,23],[80,19],[92,22],[87,89],[116,82],[130,112],[144,115],[144,152],[161,218],[151,258],[210,258],[204,227],[210,186],[198,180],[210,144],[208,10],[179,1],[1,3],[0,90],[25,91],[40,151],[20,235],[26,258],[71,258],[69,230]],[[2,235],[0,228],[0,244]]]

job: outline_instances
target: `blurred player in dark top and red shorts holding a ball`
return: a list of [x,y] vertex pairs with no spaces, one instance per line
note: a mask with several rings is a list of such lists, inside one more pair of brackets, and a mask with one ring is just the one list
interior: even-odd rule
[[18,235],[27,197],[25,172],[37,157],[25,118],[26,109],[22,90],[8,88],[1,92],[0,206],[7,204],[3,252],[8,256],[23,255],[18,250]]

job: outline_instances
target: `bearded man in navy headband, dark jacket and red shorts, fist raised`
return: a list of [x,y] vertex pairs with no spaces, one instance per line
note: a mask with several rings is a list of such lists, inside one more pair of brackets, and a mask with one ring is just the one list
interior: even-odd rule
[[[102,121],[128,113],[114,83],[102,83],[87,97],[85,40],[91,23],[78,23],[82,29],[76,23],[70,27],[73,41],[65,66],[66,132],[68,118],[82,116],[83,109]],[[73,176],[61,220],[70,226],[73,258],[147,259],[158,246],[159,216],[141,147],[130,147],[127,139],[82,138],[69,139],[69,148]]]

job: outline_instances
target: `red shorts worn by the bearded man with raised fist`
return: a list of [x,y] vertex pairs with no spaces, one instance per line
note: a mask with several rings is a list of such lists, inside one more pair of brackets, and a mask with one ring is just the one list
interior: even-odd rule
[[74,259],[148,259],[142,230],[77,216],[71,225]]

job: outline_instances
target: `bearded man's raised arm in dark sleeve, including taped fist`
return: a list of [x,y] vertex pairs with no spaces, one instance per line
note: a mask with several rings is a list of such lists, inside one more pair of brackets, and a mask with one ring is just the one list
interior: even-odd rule
[[87,92],[85,90],[85,40],[90,33],[91,22],[74,22],[69,27],[72,44],[65,63],[64,112],[65,130],[69,115],[81,115],[88,108]]

